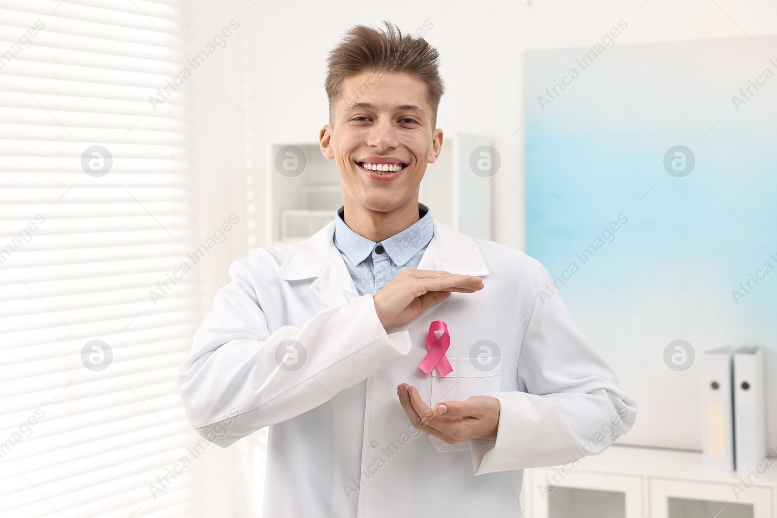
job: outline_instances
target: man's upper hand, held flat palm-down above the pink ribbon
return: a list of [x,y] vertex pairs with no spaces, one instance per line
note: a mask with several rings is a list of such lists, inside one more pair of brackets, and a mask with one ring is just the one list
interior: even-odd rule
[[483,279],[472,275],[406,268],[373,297],[385,329],[402,327],[451,293],[483,290]]

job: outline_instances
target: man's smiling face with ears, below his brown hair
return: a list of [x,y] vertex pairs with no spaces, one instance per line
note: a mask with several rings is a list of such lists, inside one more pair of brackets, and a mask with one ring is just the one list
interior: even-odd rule
[[[374,85],[368,91],[365,85]],[[360,91],[361,88],[361,91]],[[319,138],[334,158],[343,196],[376,212],[416,203],[427,164],[440,155],[442,130],[432,125],[426,85],[405,73],[365,71],[343,81],[333,124]]]

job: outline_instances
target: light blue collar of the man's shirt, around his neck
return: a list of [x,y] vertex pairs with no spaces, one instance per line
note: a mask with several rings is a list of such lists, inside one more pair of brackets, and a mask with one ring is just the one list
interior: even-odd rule
[[[423,247],[429,244],[434,235],[434,224],[429,207],[423,203],[418,203],[418,208],[419,214],[423,210],[427,211],[423,217],[405,230],[381,242],[383,249],[397,266],[403,266],[410,259],[413,259]],[[335,217],[333,239],[337,249],[350,259],[351,264],[357,265],[371,255],[378,243],[351,230],[343,221],[344,212],[345,206],[340,205],[337,209],[337,217]]]

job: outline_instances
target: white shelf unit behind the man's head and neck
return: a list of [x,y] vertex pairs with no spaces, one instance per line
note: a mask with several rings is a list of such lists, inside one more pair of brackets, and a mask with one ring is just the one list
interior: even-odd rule
[[[483,145],[489,145],[485,137],[444,137],[437,162],[427,165],[419,201],[444,224],[490,239],[492,181],[476,175],[469,165],[472,151]],[[296,156],[300,151],[302,155]],[[287,155],[290,152],[294,155]],[[321,154],[318,142],[275,142],[267,159],[267,245],[298,244],[333,221],[336,208],[343,204],[340,176],[335,162]]]

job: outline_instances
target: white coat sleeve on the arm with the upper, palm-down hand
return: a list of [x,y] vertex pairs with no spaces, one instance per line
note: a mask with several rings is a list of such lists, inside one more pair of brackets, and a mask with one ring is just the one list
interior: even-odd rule
[[221,447],[322,405],[411,349],[409,332],[385,332],[371,294],[270,333],[240,261],[229,275],[177,378],[190,423]]

